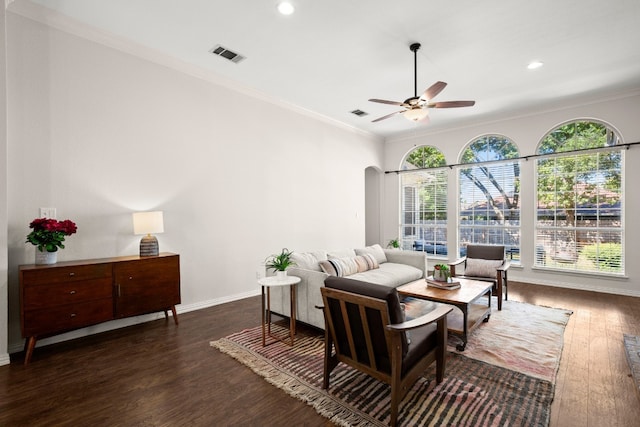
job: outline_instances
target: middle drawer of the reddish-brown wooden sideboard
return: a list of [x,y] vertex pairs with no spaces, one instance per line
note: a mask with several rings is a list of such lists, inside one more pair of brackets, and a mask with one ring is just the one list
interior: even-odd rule
[[24,309],[34,310],[112,297],[111,278],[25,286]]

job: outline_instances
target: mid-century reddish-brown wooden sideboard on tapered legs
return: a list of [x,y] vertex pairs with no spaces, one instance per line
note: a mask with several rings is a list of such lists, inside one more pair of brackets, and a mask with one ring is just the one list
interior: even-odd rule
[[20,326],[29,364],[38,338],[113,319],[172,311],[178,324],[180,255],[20,266]]

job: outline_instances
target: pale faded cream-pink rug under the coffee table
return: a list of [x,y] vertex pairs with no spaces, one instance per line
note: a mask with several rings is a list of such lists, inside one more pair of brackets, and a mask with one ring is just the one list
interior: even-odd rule
[[[433,309],[434,303],[409,299],[407,315],[417,317]],[[457,310],[457,309],[454,309]],[[560,367],[564,330],[573,312],[518,301],[503,301],[495,307],[489,321],[471,333],[461,354],[492,365],[554,381]],[[449,351],[459,341],[449,340]],[[460,352],[458,352],[460,353]]]

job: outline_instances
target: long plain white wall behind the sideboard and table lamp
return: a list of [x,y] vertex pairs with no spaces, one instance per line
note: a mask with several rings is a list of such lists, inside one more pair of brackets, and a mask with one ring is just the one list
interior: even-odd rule
[[256,294],[258,265],[282,247],[364,245],[377,139],[13,13],[7,25],[10,351],[40,207],[78,225],[59,261],[136,254],[131,213],[163,210],[179,311]]

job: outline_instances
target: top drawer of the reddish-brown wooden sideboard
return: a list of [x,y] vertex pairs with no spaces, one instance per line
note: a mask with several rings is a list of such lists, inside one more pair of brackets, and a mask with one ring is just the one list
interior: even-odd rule
[[113,267],[110,263],[50,267],[22,271],[25,285],[75,282],[81,280],[110,278]]

